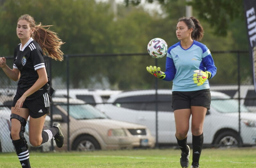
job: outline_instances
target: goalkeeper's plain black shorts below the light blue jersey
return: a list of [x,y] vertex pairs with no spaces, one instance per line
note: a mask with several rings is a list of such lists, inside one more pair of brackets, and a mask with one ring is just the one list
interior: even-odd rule
[[172,92],[173,110],[190,108],[190,106],[203,106],[210,109],[211,92],[210,89],[204,89],[191,92]]

